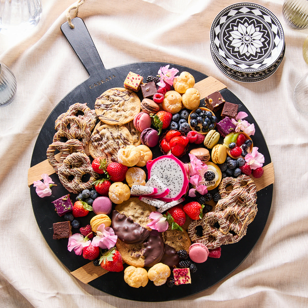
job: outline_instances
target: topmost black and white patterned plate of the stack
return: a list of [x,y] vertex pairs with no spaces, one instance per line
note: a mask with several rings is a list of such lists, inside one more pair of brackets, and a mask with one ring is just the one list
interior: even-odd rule
[[239,72],[270,68],[284,48],[284,34],[278,19],[255,3],[226,7],[211,26],[211,47],[219,61]]

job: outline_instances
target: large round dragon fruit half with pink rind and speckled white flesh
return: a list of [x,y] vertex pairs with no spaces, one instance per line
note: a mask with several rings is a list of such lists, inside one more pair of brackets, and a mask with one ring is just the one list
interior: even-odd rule
[[169,189],[162,201],[171,202],[180,199],[188,188],[188,176],[184,164],[172,154],[163,155],[147,162],[148,177],[156,175]]

